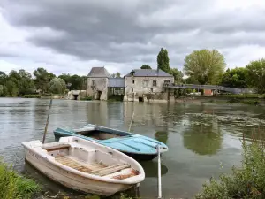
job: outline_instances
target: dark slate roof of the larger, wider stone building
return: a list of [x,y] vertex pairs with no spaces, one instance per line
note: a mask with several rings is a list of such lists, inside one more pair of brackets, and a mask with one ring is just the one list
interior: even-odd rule
[[161,69],[134,69],[131,73],[126,74],[125,77],[131,77],[133,72],[134,77],[173,77]]

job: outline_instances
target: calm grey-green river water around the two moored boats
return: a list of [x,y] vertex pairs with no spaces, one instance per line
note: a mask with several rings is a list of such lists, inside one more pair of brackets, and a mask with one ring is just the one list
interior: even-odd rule
[[[24,163],[21,142],[42,140],[49,100],[0,98],[0,155],[42,184],[49,193],[70,190],[46,179]],[[134,111],[134,117],[133,117]],[[47,142],[58,126],[78,128],[92,123],[155,138],[168,145],[162,157],[165,198],[191,198],[209,178],[240,165],[242,134],[265,133],[265,108],[201,103],[107,103],[54,100]],[[155,198],[157,159],[141,163],[146,179],[140,196]],[[73,194],[77,195],[77,194]]]

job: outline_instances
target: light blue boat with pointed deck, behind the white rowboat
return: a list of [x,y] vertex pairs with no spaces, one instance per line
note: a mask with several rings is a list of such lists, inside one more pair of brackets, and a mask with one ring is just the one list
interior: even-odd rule
[[88,141],[97,142],[112,149],[117,149],[136,160],[154,159],[157,157],[157,146],[160,146],[161,153],[168,150],[163,142],[147,136],[91,124],[73,130],[57,128],[54,135],[56,140],[64,136],[77,136]]

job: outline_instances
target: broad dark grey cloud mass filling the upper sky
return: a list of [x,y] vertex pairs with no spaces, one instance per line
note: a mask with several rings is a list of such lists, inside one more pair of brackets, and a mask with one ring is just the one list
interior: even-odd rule
[[187,53],[200,48],[265,46],[260,36],[265,32],[263,8],[212,11],[214,2],[3,0],[2,6],[14,26],[49,27],[64,33],[56,39],[33,33],[29,42],[81,60],[154,63],[160,48],[166,47],[171,65],[178,66]]

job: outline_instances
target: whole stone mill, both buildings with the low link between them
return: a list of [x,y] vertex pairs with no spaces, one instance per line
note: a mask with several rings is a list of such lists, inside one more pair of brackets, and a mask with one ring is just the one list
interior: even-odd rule
[[124,95],[124,101],[167,100],[164,86],[174,77],[162,70],[136,69],[124,78],[110,78],[104,67],[93,67],[87,76],[87,95],[107,100],[111,95]]

